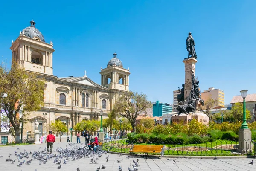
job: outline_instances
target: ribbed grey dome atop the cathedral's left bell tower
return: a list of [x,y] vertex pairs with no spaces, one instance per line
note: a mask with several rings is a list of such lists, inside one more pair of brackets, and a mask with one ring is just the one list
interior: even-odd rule
[[30,21],[30,27],[26,27],[25,29],[22,30],[21,33],[24,33],[26,37],[45,42],[42,33],[35,28],[35,21],[33,20]]

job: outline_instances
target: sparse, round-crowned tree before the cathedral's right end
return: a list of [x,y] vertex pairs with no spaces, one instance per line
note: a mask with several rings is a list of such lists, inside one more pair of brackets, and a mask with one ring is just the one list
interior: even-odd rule
[[151,107],[151,102],[148,101],[147,95],[130,91],[120,94],[114,109],[119,115],[128,119],[135,132],[136,118],[140,113],[145,112],[148,107]]

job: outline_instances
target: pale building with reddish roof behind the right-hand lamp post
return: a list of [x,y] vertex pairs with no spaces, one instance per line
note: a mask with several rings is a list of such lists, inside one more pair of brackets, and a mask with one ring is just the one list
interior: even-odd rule
[[[234,106],[235,103],[243,103],[244,99],[242,98],[241,95],[239,96],[233,96],[232,100],[230,101],[230,104],[232,104],[232,106]],[[256,94],[247,94],[246,98],[245,98],[245,102],[246,102],[246,109],[250,110],[251,114],[252,114],[252,121],[254,122],[256,117],[255,117],[255,109],[256,109]]]

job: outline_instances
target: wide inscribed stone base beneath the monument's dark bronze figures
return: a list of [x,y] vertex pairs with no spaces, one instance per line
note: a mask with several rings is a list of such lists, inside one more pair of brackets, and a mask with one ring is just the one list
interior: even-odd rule
[[195,119],[205,125],[209,123],[209,117],[203,112],[199,111],[181,113],[180,115],[175,114],[172,116],[172,123],[188,124],[190,121],[192,121],[192,119]]

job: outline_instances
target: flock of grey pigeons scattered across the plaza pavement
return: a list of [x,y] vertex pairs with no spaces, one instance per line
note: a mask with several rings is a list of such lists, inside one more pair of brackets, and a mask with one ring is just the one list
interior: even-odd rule
[[[17,148],[17,150],[19,150],[19,148]],[[90,162],[92,164],[98,164],[99,163],[99,158],[102,157],[102,154],[107,154],[107,151],[102,151],[102,150],[97,150],[96,153],[94,153],[94,151],[89,150],[88,147],[86,146],[77,146],[76,143],[69,143],[69,146],[66,148],[61,148],[58,147],[55,151],[58,152],[58,154],[48,154],[47,153],[47,148],[44,148],[44,150],[41,151],[34,151],[34,152],[28,152],[26,150],[24,150],[24,152],[18,153],[17,151],[14,151],[14,156],[12,157],[13,154],[9,153],[8,158],[6,159],[6,162],[10,162],[12,164],[15,163],[15,161],[17,160],[17,162],[19,163],[17,165],[17,167],[21,167],[22,165],[29,165],[31,162],[38,162],[39,165],[41,165],[42,163],[45,164],[47,162],[52,162],[56,165],[58,165],[58,169],[61,169],[62,165],[67,164],[67,162],[70,161],[76,161],[78,159],[82,159],[82,158],[91,158]],[[30,158],[29,158],[30,155]],[[119,157],[122,156],[122,154],[118,154]],[[3,157],[0,155],[0,157]],[[142,156],[144,157],[144,156]],[[11,159],[12,158],[12,159]],[[13,159],[16,158],[16,159]],[[130,156],[127,156],[126,158],[130,158]],[[181,157],[177,157],[177,158],[181,158]],[[189,157],[184,156],[185,159],[188,159]],[[109,159],[109,155],[106,157],[106,162],[108,162]],[[147,160],[148,158],[145,157],[145,160]],[[160,159],[160,157],[158,157],[158,159]],[[23,161],[22,161],[23,160]],[[26,162],[25,162],[26,160]],[[33,161],[34,160],[34,161]],[[217,157],[214,157],[213,160],[217,160]],[[122,160],[117,160],[118,163],[120,163]],[[133,164],[133,170],[131,168],[128,167],[128,171],[138,171],[138,167],[140,167],[139,165],[139,159],[137,159],[137,161],[132,160]],[[173,161],[174,163],[178,162],[177,159],[171,159],[171,158],[167,158],[167,161]],[[253,165],[253,160],[252,162],[249,163],[249,165]],[[96,169],[96,171],[99,171],[100,169],[106,169],[105,165],[101,165],[99,166],[99,168]],[[122,171],[122,167],[119,166],[118,168],[119,171]],[[22,170],[21,170],[22,171]],[[35,171],[37,171],[37,169],[35,169]],[[76,171],[80,171],[79,168],[76,169]]]

